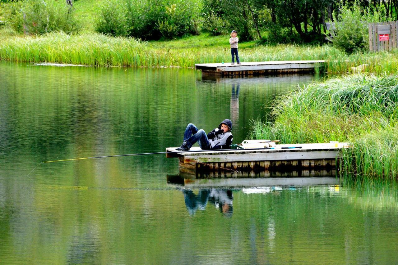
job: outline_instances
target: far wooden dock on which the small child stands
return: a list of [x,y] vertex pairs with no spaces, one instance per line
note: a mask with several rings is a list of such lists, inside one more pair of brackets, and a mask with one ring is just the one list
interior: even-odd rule
[[326,66],[324,60],[312,61],[269,61],[269,62],[242,62],[242,64],[217,63],[195,64],[196,70],[201,70],[202,75],[267,75],[267,74],[292,74],[302,72],[323,71]]

